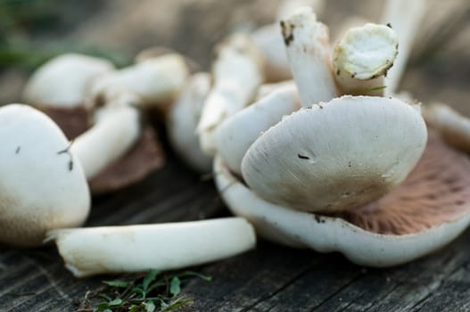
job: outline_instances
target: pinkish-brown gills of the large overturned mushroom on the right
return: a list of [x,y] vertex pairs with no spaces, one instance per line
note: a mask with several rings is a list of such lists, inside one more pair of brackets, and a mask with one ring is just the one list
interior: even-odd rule
[[430,132],[405,182],[378,201],[335,214],[377,234],[413,234],[455,221],[470,210],[470,161]]

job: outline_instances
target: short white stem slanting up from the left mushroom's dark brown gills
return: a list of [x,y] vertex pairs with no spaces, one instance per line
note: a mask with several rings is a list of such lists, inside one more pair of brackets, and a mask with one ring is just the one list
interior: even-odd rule
[[95,125],[72,142],[70,152],[77,156],[88,180],[128,152],[141,133],[140,111],[133,94],[120,94],[95,112]]

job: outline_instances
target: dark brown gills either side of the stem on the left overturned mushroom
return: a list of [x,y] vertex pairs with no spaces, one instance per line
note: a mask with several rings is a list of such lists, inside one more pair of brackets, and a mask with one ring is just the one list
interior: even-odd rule
[[[45,112],[69,140],[73,140],[90,127],[88,113],[83,105],[70,108],[43,106]],[[90,181],[92,193],[107,193],[131,185],[163,166],[164,156],[158,144],[153,127],[144,125],[136,144],[120,160],[105,168]]]

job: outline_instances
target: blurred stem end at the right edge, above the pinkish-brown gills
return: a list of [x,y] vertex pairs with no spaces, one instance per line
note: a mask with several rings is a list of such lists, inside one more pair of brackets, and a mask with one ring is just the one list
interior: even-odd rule
[[470,119],[445,104],[425,106],[426,123],[438,130],[444,140],[459,150],[470,153]]

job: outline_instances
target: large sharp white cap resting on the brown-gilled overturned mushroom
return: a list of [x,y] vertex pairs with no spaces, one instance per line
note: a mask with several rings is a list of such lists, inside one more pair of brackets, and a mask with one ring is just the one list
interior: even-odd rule
[[293,209],[338,211],[399,185],[425,149],[419,106],[392,98],[343,96],[296,111],[251,145],[247,185]]

